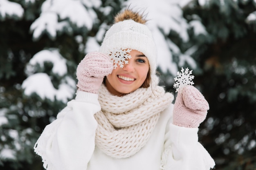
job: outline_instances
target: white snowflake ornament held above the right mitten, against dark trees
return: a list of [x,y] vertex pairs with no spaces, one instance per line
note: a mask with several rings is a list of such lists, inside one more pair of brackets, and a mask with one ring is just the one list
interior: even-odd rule
[[179,91],[184,85],[193,85],[194,76],[192,75],[192,70],[189,70],[189,68],[181,68],[181,72],[177,72],[177,77],[174,78],[175,84],[173,85],[174,88],[176,88],[176,92]]

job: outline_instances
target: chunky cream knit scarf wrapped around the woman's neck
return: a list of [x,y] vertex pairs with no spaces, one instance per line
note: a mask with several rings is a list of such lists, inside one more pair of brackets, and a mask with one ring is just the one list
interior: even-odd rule
[[106,86],[99,89],[101,111],[94,115],[98,122],[95,144],[107,155],[126,158],[138,152],[148,141],[160,113],[173,101],[171,93],[157,86],[151,77],[149,88],[117,97]]

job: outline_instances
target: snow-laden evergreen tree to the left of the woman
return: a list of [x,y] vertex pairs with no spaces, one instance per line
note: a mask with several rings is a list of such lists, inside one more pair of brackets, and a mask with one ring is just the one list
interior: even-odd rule
[[122,0],[0,0],[0,169],[43,170],[33,146],[74,97],[76,66]]

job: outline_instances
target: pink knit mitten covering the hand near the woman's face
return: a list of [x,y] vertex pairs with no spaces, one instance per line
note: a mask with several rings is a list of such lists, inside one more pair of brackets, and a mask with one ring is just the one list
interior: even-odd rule
[[113,63],[108,55],[99,52],[88,53],[76,69],[78,90],[97,93],[104,76],[109,75],[112,70]]

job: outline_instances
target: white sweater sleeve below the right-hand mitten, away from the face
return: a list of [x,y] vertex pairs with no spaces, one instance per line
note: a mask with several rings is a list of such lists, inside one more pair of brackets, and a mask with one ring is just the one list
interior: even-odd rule
[[167,126],[162,169],[210,170],[215,166],[207,150],[198,142],[198,128],[176,126],[171,120]]

